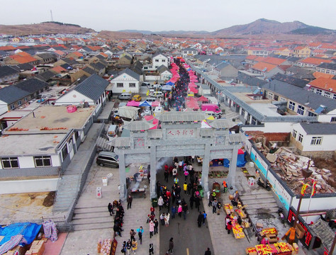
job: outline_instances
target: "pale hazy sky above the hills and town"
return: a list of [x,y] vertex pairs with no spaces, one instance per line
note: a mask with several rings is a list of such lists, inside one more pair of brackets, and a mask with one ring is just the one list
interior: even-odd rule
[[[267,18],[336,30],[336,0],[0,0],[0,24],[51,21],[100,30],[207,30]],[[1,33],[1,30],[0,30]]]

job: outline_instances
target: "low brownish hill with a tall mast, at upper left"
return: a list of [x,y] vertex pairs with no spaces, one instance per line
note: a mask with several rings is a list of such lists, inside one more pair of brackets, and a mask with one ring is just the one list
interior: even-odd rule
[[24,35],[51,35],[57,33],[92,33],[91,28],[82,28],[74,24],[60,22],[43,22],[30,25],[0,25],[0,33],[24,36]]

